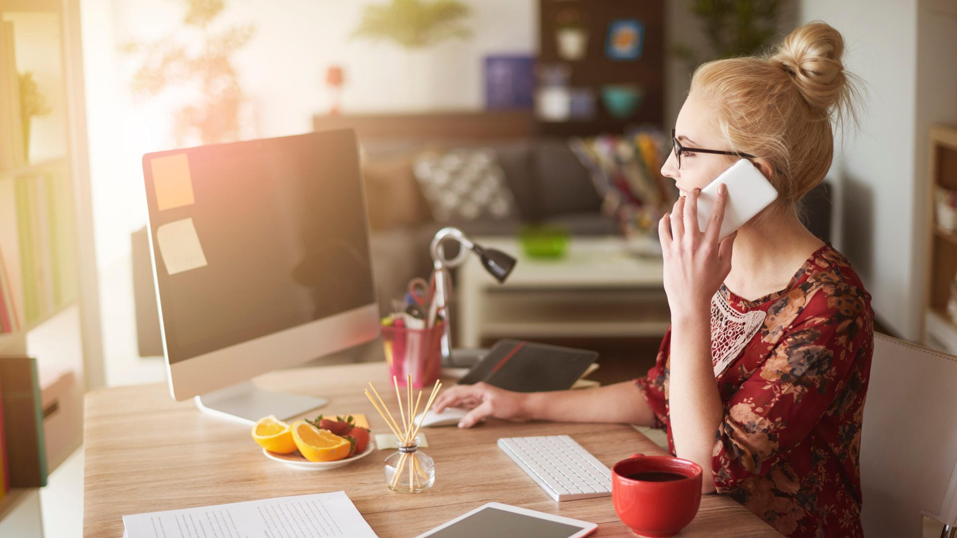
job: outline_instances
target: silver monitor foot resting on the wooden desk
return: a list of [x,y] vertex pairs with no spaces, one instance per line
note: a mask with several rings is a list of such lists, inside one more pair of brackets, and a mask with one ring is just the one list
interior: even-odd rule
[[316,396],[263,391],[252,381],[207,392],[193,400],[203,413],[250,426],[263,416],[276,415],[279,420],[286,420],[329,403],[329,400]]

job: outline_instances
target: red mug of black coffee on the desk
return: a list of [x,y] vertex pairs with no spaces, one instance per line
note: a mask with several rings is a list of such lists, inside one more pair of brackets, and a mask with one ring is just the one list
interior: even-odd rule
[[612,503],[618,518],[635,534],[674,536],[698,513],[701,465],[671,456],[633,454],[612,466]]

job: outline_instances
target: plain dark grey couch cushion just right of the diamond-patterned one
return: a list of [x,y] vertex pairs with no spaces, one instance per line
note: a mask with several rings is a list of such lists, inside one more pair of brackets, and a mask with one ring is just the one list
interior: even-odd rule
[[598,212],[601,199],[585,168],[563,140],[536,144],[534,164],[538,177],[540,218],[566,213]]

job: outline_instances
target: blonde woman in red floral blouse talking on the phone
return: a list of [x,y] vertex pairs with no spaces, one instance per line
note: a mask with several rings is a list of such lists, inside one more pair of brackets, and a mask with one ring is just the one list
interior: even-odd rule
[[[870,295],[797,209],[830,168],[831,120],[850,112],[842,50],[818,22],[773,56],[695,72],[661,168],[682,195],[659,223],[672,319],[645,377],[590,391],[461,386],[435,409],[471,409],[464,428],[485,416],[661,427],[672,454],[705,469],[704,492],[730,495],[786,536],[860,536]],[[720,240],[721,191],[701,233],[699,191],[742,157],[778,200]]]

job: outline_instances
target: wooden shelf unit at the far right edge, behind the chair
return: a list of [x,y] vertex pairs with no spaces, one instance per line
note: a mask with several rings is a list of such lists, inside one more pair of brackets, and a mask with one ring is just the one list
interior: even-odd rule
[[957,276],[957,232],[936,220],[935,191],[957,191],[957,125],[931,125],[929,131],[929,207],[927,278],[924,297],[924,344],[957,353],[957,320],[947,313],[951,282]]

